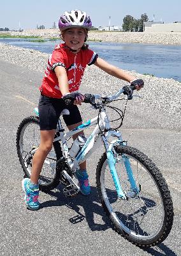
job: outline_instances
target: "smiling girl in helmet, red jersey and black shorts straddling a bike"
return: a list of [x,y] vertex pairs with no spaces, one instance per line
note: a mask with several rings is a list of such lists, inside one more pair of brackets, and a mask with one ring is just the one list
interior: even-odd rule
[[[62,109],[69,109],[69,115],[63,116],[69,130],[82,124],[82,118],[77,105],[83,102],[83,95],[78,93],[82,81],[83,72],[87,65],[96,65],[106,73],[134,84],[136,90],[143,87],[141,79],[127,74],[98,57],[91,51],[88,45],[87,33],[92,26],[90,17],[80,10],[65,12],[59,19],[64,44],[59,44],[48,59],[45,77],[40,86],[40,146],[33,157],[31,179],[22,180],[22,188],[25,192],[25,204],[29,209],[37,210],[40,207],[38,201],[39,188],[38,177],[41,168],[52,149],[57,122]],[[73,99],[74,104],[66,106],[66,99]],[[80,132],[83,134],[83,132]],[[73,140],[75,140],[73,136]],[[76,178],[83,195],[89,195],[89,186],[86,163],[80,164],[80,170],[76,172]]]

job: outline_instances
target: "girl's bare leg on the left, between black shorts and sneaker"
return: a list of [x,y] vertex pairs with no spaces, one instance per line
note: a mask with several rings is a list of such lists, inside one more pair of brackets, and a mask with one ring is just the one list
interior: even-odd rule
[[45,158],[52,149],[55,131],[56,130],[40,131],[40,146],[33,156],[33,164],[31,169],[31,182],[33,184],[38,184],[41,168]]

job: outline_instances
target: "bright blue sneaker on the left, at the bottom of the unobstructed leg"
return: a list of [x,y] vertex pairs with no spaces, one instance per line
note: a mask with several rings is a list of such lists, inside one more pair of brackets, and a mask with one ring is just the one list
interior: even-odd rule
[[38,202],[39,187],[38,185],[32,185],[30,179],[25,178],[22,180],[22,189],[25,193],[24,201],[27,208],[30,210],[38,210],[40,202]]

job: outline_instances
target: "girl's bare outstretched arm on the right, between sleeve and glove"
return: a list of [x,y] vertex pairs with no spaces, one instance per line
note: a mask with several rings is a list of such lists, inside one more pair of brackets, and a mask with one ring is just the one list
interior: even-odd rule
[[127,74],[120,68],[117,68],[117,67],[109,64],[108,62],[106,62],[105,60],[103,60],[99,57],[95,61],[94,65],[96,65],[96,67],[98,67],[98,68],[101,68],[106,73],[110,74],[111,76],[115,76],[119,79],[123,79],[124,81],[127,81],[129,83],[136,79],[136,77]]

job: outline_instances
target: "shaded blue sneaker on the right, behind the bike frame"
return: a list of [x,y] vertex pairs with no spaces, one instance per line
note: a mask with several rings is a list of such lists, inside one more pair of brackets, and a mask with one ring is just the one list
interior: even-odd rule
[[78,184],[80,186],[80,192],[82,193],[82,195],[89,195],[91,192],[91,188],[89,186],[89,175],[87,174],[86,170],[77,170],[75,175],[76,179],[78,179]]

